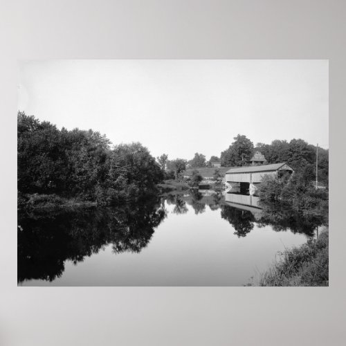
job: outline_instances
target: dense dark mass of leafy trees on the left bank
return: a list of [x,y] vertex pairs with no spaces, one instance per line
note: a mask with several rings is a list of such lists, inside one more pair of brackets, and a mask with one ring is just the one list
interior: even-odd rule
[[17,116],[19,198],[31,194],[112,203],[152,190],[163,170],[140,143],[116,145],[99,132]]

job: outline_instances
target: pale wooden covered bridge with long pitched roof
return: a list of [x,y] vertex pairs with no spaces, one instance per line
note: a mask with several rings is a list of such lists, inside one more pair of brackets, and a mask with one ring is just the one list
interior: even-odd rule
[[273,163],[251,167],[231,168],[225,174],[226,183],[261,183],[263,176],[268,174],[280,178],[284,173],[292,174],[293,168],[288,163]]

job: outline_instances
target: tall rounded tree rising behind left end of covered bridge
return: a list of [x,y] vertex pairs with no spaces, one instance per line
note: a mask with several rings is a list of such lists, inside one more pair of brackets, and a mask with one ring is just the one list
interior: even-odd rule
[[241,166],[250,159],[253,152],[253,143],[244,135],[238,134],[233,138],[235,141],[221,152],[221,165],[223,166]]

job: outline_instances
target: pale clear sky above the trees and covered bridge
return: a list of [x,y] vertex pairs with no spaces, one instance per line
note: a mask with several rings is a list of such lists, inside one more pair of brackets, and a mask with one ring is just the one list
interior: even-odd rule
[[18,78],[19,111],[155,157],[208,160],[237,134],[329,147],[328,60],[37,60]]

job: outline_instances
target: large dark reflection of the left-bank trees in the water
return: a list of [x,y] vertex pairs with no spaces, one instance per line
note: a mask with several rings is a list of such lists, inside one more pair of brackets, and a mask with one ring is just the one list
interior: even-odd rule
[[53,281],[66,260],[77,264],[109,244],[114,253],[139,253],[166,216],[158,198],[117,208],[19,212],[17,280]]

